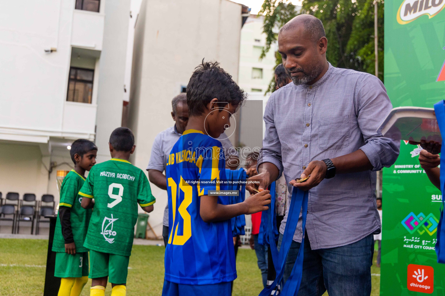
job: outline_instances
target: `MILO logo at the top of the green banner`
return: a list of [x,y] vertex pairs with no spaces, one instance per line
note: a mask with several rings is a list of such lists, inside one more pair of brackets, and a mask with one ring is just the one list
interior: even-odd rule
[[408,24],[423,15],[431,19],[444,7],[445,0],[404,0],[397,11],[397,23]]

